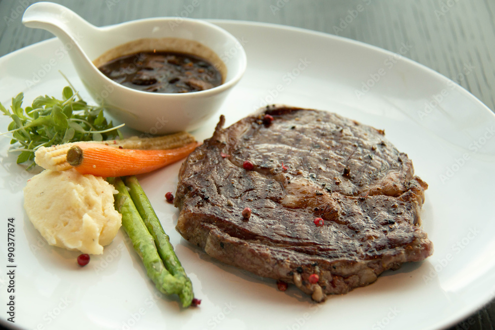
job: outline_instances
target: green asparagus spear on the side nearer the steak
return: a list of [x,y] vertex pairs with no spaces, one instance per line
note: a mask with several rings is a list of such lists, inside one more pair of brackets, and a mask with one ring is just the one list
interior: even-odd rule
[[191,280],[187,277],[184,268],[177,258],[174,247],[170,244],[168,235],[163,231],[160,221],[143,188],[139,184],[138,179],[135,176],[130,176],[125,178],[124,181],[129,188],[129,194],[131,195],[134,205],[136,205],[136,209],[141,215],[149,233],[153,236],[156,248],[158,249],[158,254],[161,257],[161,260],[163,260],[165,267],[176,279],[182,279],[185,282],[182,292],[179,293],[179,297],[182,306],[188,307],[191,305],[194,298]]

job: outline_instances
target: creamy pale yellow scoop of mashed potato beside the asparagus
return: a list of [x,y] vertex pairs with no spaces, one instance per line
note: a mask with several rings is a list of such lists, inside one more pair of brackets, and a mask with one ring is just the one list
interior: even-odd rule
[[101,177],[45,170],[24,188],[24,208],[50,245],[101,254],[122,223],[113,206],[116,192]]

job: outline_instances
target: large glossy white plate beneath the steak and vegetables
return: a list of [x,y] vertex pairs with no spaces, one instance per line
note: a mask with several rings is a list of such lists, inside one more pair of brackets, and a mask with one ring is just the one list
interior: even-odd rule
[[[179,164],[141,177],[152,204],[190,275],[200,308],[181,310],[161,297],[122,233],[80,268],[78,253],[50,247],[27,219],[22,188],[29,178],[0,140],[0,233],[15,218],[16,325],[25,329],[437,329],[453,324],[495,296],[495,116],[458,85],[399,55],[300,29],[215,21],[238,37],[248,68],[218,114],[234,123],[266,103],[335,111],[385,129],[430,185],[422,217],[435,253],[387,272],[367,287],[322,304],[296,288],[212,260],[175,231]],[[57,40],[0,59],[0,101],[60,95],[61,70],[84,91]],[[408,47],[405,45],[405,47]],[[235,50],[232,50],[235,51]],[[407,52],[406,49],[404,49]],[[469,72],[466,72],[469,74]],[[28,86],[32,85],[32,86]],[[356,92],[357,91],[357,92]],[[360,93],[358,93],[360,92]],[[213,132],[217,118],[194,132]],[[1,119],[0,130],[7,121]],[[5,320],[6,242],[0,243],[0,305]]]

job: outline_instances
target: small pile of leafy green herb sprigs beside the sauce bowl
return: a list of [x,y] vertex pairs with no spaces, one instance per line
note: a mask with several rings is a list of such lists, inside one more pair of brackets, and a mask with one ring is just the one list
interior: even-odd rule
[[[77,100],[76,100],[77,96]],[[31,106],[23,109],[23,93],[12,98],[10,109],[0,103],[0,110],[12,122],[8,132],[12,134],[10,144],[21,146],[9,151],[20,151],[17,164],[33,161],[34,152],[41,146],[50,146],[76,141],[103,141],[121,137],[118,128],[108,123],[101,106],[88,105],[78,92],[69,86],[64,87],[62,99],[48,95],[37,97]],[[33,166],[34,162],[29,166]]]

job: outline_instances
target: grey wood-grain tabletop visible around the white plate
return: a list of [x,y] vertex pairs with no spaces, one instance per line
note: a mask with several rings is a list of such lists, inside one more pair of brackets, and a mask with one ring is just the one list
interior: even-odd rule
[[[198,6],[193,7],[196,1]],[[0,1],[0,56],[53,37],[21,24],[22,12],[32,2]],[[399,52],[404,44],[411,45],[403,56],[440,72],[474,94],[492,111],[495,109],[494,0],[54,2],[69,7],[97,26],[156,16],[234,19],[326,32],[394,52]],[[494,329],[493,302],[451,329]]]

